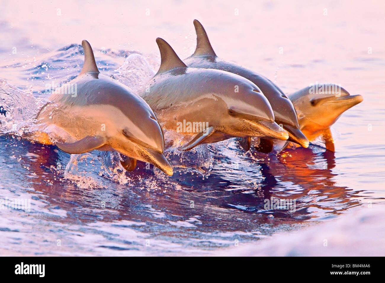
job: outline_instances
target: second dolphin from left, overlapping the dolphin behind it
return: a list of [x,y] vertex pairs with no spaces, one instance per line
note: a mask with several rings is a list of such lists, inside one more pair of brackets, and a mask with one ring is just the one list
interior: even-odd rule
[[[166,41],[157,38],[156,43],[161,65],[139,95],[155,111],[164,129],[192,137],[180,150],[230,137],[288,139],[253,82],[221,70],[187,67]],[[182,122],[186,124],[183,129]]]

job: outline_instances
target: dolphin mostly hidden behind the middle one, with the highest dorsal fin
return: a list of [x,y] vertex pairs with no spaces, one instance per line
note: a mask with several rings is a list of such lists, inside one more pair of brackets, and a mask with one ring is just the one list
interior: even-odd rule
[[[215,54],[213,47],[211,47],[202,24],[198,20],[194,20],[194,26],[197,35],[196,50],[194,54],[184,60],[186,65],[194,68],[224,70],[251,80],[251,82],[258,85],[269,100],[271,108],[274,111],[275,122],[282,126],[289,134],[288,141],[300,144],[305,148],[308,147],[309,141],[300,129],[298,129],[298,120],[294,106],[282,90],[262,75],[219,58]],[[240,140],[241,146],[245,150],[249,150],[250,142],[250,137]],[[257,149],[265,153],[270,152],[273,149],[273,140],[261,139]]]

